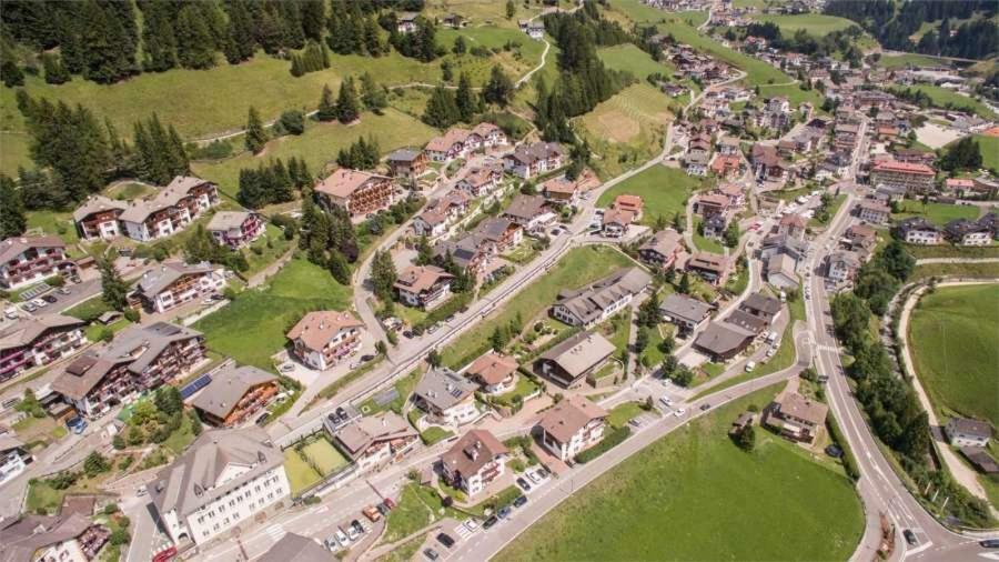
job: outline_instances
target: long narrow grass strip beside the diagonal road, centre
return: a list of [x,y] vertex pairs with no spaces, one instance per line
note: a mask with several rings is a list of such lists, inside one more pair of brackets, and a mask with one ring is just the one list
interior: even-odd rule
[[442,352],[444,364],[456,369],[473,360],[473,354],[477,357],[484,352],[496,327],[508,325],[518,312],[525,323],[529,322],[555,302],[558,291],[567,287],[581,287],[633,263],[625,254],[612,248],[586,247],[571,250],[554,268],[517,293],[497,313],[488,315],[475,330],[465,332],[447,345]]

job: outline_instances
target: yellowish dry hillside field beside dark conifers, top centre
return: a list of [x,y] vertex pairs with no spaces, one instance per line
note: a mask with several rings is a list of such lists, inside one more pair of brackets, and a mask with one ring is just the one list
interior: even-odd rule
[[672,103],[675,102],[666,94],[643,81],[578,118],[596,155],[593,167],[597,173],[612,178],[657,154],[666,124],[673,119]]

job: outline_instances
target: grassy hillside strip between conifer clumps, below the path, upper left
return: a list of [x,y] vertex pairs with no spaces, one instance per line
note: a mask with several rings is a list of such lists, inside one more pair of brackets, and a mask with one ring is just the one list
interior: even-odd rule
[[375,116],[365,112],[361,122],[344,126],[337,122],[321,123],[309,121],[305,132],[300,136],[287,136],[268,143],[258,155],[242,152],[226,160],[196,162],[192,171],[204,179],[219,184],[225,193],[235,197],[239,188],[240,169],[256,168],[273,159],[287,161],[290,157],[304,158],[309,171],[317,175],[327,162],[336,160],[336,152],[361,138],[374,137],[382,152],[405,145],[423,145],[437,134],[437,131],[411,116],[395,109],[386,109],[384,114]]

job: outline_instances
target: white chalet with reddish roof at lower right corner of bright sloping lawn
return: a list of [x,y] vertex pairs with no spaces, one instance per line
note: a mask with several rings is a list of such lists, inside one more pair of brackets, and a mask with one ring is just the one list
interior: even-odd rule
[[325,371],[361,349],[364,323],[350,312],[309,312],[287,332],[292,352],[302,363]]

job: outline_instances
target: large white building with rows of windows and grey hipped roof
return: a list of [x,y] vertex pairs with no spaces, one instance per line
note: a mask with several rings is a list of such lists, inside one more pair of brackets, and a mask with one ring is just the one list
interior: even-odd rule
[[256,426],[205,431],[148,488],[175,544],[202,544],[251,524],[283,506],[291,490],[281,449]]

